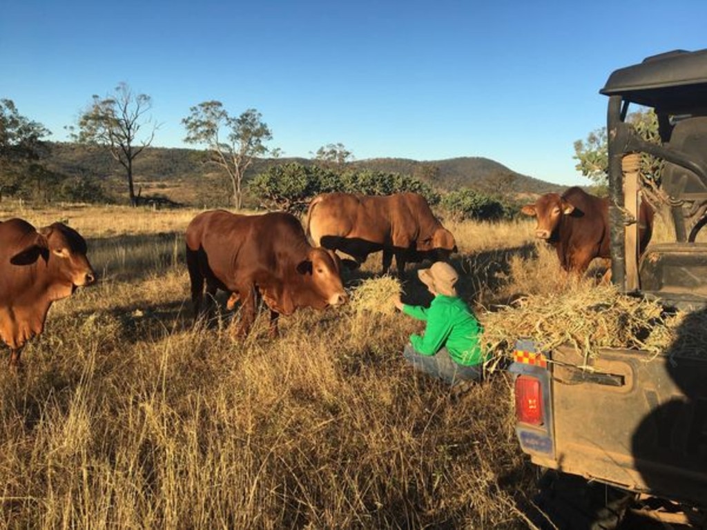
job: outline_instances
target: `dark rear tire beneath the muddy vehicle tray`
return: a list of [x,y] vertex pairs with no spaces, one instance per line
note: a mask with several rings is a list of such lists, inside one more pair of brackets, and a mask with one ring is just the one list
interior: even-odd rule
[[532,517],[540,529],[613,530],[624,517],[633,494],[599,482],[557,471],[539,481]]

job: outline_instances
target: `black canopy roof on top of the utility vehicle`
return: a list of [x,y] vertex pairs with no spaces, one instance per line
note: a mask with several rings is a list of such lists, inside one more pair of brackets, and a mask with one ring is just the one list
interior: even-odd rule
[[680,114],[707,108],[707,49],[676,49],[614,71],[600,90],[656,112]]

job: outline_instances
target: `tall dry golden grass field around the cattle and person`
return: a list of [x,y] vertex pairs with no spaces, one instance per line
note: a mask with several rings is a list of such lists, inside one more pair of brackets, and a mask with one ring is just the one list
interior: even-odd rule
[[[76,228],[100,276],[52,306],[23,372],[0,370],[0,527],[528,527],[536,471],[505,372],[453,396],[402,360],[420,329],[402,314],[303,310],[275,339],[264,312],[244,341],[226,310],[194,328],[182,234],[196,213],[0,204],[0,219]],[[448,228],[482,322],[566,282],[530,221]],[[379,268],[374,254],[346,284]],[[425,301],[407,277],[403,299]]]

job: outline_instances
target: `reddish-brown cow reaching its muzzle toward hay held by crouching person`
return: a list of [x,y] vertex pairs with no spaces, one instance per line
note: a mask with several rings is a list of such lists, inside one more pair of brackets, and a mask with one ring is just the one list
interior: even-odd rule
[[341,260],[310,246],[299,220],[289,213],[206,211],[189,223],[186,240],[194,318],[201,316],[204,283],[212,298],[218,289],[233,293],[229,309],[242,304],[238,336],[245,336],[255,320],[256,290],[270,310],[272,335],[279,314],[298,307],[323,310],[348,300]]

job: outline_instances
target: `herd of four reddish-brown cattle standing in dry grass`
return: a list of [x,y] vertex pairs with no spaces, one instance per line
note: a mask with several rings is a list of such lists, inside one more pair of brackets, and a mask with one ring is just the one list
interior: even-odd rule
[[[537,217],[536,235],[556,247],[563,269],[583,273],[593,258],[609,257],[607,199],[573,187],[562,196],[545,194],[522,212]],[[653,223],[645,205],[639,223],[644,249]],[[452,232],[414,193],[322,194],[310,203],[305,227],[306,232],[284,212],[245,216],[216,210],[194,217],[185,234],[194,319],[209,315],[214,294],[224,290],[230,293],[229,309],[240,302],[240,324],[233,330],[245,336],[260,295],[276,335],[280,314],[344,304],[341,270],[368,254],[382,251],[383,273],[395,257],[401,276],[408,262],[448,259],[457,252]],[[355,261],[339,258],[337,250]],[[95,282],[86,252],[83,237],[62,223],[37,230],[18,218],[0,222],[0,337],[10,348],[11,367],[21,364],[21,348],[42,332],[52,302]]]

